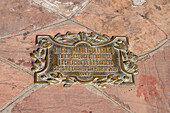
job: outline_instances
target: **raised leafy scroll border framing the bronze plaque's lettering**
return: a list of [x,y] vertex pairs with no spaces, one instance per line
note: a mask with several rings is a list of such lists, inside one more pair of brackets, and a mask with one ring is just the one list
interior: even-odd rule
[[[85,34],[84,32],[80,32],[80,36]],[[70,87],[74,83],[79,82],[81,84],[95,84],[99,87],[106,87],[106,84],[112,84],[112,85],[134,85],[134,74],[137,74],[137,65],[134,64],[137,61],[137,56],[130,52],[128,50],[128,45],[129,41],[127,37],[120,37],[120,36],[112,36],[109,41],[106,41],[102,44],[92,44],[89,41],[86,41],[85,39],[81,38],[81,40],[77,41],[74,44],[64,44],[60,43],[55,40],[55,38],[59,36],[68,36],[71,34],[75,33],[66,33],[66,35],[60,35],[57,34],[54,38],[52,38],[50,35],[37,35],[36,36],[36,45],[38,46],[38,49],[36,51],[33,51],[33,53],[30,53],[31,58],[34,60],[32,62],[32,71],[34,72],[34,83],[36,84],[58,84],[58,83],[63,83],[64,87]],[[94,34],[93,35],[98,35]],[[101,35],[98,35],[101,36]],[[107,35],[103,35],[107,36]],[[84,37],[84,36],[83,36]],[[102,36],[101,36],[102,37]],[[107,36],[108,37],[108,36]],[[53,44],[57,43],[61,46],[69,46],[69,47],[74,47],[78,43],[88,43],[91,46],[103,46],[107,45],[109,43],[114,43],[114,47],[119,50],[119,57],[120,57],[120,66],[121,70],[124,73],[124,75],[108,75],[107,77],[100,77],[100,76],[95,76],[89,81],[81,81],[78,80],[77,77],[75,76],[70,76],[66,77],[62,75],[61,73],[51,73],[50,75],[41,75],[41,77],[44,79],[44,81],[39,81],[38,80],[38,74],[45,71],[48,68],[48,62],[49,62],[49,48],[53,46]],[[131,80],[132,82],[126,82],[128,76],[126,75],[131,75]],[[49,77],[50,76],[50,77]],[[123,78],[122,78],[123,77]]]

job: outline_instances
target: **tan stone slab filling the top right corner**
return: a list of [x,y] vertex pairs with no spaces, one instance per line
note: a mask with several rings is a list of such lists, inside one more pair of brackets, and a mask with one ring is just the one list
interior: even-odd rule
[[169,0],[147,0],[140,8],[131,7],[129,10],[141,13],[167,35],[170,35],[169,4]]

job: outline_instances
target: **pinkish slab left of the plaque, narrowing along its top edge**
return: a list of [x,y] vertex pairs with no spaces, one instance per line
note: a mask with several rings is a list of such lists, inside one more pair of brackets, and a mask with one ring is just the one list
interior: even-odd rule
[[37,31],[33,34],[29,34],[25,40],[23,40],[23,36],[16,36],[9,39],[0,40],[0,56],[26,68],[27,70],[31,70],[32,66],[30,53],[36,49],[36,35],[54,36],[59,32],[65,34],[67,31],[75,33],[80,31],[90,32],[84,27],[71,24]]

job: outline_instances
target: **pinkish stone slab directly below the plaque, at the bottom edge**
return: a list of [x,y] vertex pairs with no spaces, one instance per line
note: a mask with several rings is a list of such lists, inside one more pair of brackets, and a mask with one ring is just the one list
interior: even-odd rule
[[12,113],[125,113],[101,96],[89,92],[85,86],[48,86],[33,92],[17,103]]

